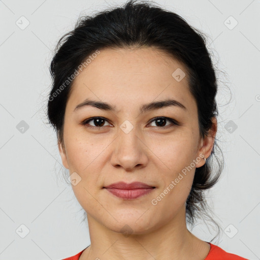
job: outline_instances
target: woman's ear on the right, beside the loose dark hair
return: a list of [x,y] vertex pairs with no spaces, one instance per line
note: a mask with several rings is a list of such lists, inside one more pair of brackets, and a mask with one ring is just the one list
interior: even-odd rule
[[211,120],[212,127],[209,131],[208,136],[206,136],[204,139],[201,139],[200,150],[198,151],[197,157],[200,157],[202,159],[196,165],[197,168],[202,167],[206,163],[204,157],[207,159],[210,156],[211,151],[214,147],[215,136],[217,133],[217,119],[216,117],[212,117]]

